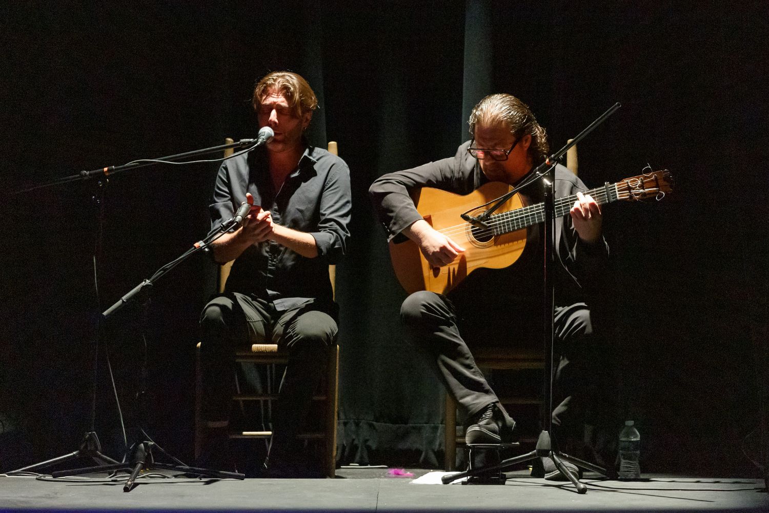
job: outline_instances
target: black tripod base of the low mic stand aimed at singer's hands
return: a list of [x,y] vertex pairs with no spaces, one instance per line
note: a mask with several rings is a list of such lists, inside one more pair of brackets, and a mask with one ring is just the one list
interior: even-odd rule
[[141,441],[138,444],[135,444],[131,457],[131,463],[128,461],[123,463],[118,463],[115,461],[115,463],[111,465],[98,465],[95,467],[78,468],[76,470],[55,471],[51,474],[51,476],[53,478],[63,478],[70,475],[90,474],[92,472],[131,472],[131,475],[128,476],[128,481],[125,481],[123,491],[131,491],[133,488],[135,488],[136,478],[138,478],[139,472],[152,468],[158,468],[161,470],[173,470],[178,471],[181,474],[192,474],[209,478],[245,479],[245,475],[240,474],[239,472],[228,472],[221,470],[211,470],[209,468],[187,467],[185,465],[169,465],[167,463],[158,463],[152,456],[153,445],[155,444],[153,444],[151,441]]

